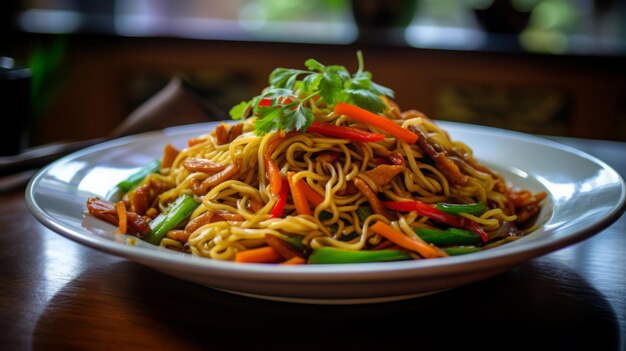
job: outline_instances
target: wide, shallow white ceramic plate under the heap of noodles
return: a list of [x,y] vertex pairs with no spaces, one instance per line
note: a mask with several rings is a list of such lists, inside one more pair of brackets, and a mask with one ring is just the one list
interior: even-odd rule
[[[120,180],[160,157],[170,142],[206,133],[215,124],[166,129],[99,144],[42,169],[26,201],[50,229],[81,244],[126,257],[204,286],[266,299],[364,303],[409,298],[478,281],[530,258],[584,240],[610,225],[625,206],[626,186],[602,161],[568,146],[500,129],[439,122],[453,139],[515,185],[549,193],[540,228],[501,247],[465,256],[388,263],[276,266],[236,264],[161,249],[115,234],[86,215],[89,197],[104,197]],[[131,245],[129,242],[136,241]]]

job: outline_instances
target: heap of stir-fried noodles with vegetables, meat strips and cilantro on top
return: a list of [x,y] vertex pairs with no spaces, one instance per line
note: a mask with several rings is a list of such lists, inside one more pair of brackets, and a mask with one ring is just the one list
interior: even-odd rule
[[354,75],[306,65],[274,71],[231,111],[240,122],[180,151],[167,145],[118,203],[89,199],[89,212],[148,242],[238,262],[435,258],[528,232],[545,193],[512,187],[423,113],[401,111],[362,61]]

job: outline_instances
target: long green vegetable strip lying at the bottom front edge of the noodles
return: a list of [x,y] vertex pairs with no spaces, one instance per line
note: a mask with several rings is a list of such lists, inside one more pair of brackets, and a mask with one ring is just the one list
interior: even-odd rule
[[320,247],[309,256],[309,264],[367,263],[408,260],[411,256],[402,250],[352,251],[335,247]]

